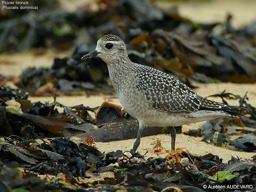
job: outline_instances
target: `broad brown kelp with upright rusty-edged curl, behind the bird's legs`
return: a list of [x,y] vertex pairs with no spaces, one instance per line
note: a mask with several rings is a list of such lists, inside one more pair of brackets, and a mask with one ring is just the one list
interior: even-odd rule
[[[98,129],[77,134],[76,137],[86,138],[90,135],[95,142],[109,142],[132,139],[137,136],[138,121],[122,110],[120,105],[103,102],[95,112],[95,123]],[[161,130],[161,127],[148,127],[142,132],[142,136],[161,134]]]

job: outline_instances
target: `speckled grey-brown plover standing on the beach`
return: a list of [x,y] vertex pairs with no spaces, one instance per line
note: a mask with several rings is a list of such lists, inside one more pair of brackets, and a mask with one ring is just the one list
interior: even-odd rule
[[116,35],[101,37],[96,49],[82,59],[96,56],[108,65],[109,77],[120,103],[139,121],[132,153],[140,145],[144,127],[172,127],[171,149],[174,150],[174,127],[237,114],[233,110],[246,110],[206,99],[167,73],[133,63],[125,43]]

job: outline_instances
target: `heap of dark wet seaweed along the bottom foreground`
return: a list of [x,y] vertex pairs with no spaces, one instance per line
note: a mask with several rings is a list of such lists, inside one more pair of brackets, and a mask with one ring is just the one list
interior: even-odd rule
[[[255,158],[223,163],[218,156],[184,149],[145,159],[121,150],[102,153],[92,143],[64,138],[39,144],[9,137],[0,142],[0,154],[1,191],[215,191],[203,186],[255,183]],[[47,182],[37,177],[42,174]]]

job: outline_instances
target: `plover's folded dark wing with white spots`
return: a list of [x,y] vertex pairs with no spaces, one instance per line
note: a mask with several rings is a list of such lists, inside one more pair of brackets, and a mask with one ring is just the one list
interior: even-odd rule
[[231,106],[199,96],[171,75],[148,66],[138,66],[139,82],[136,88],[152,103],[152,107],[159,111],[232,110]]

